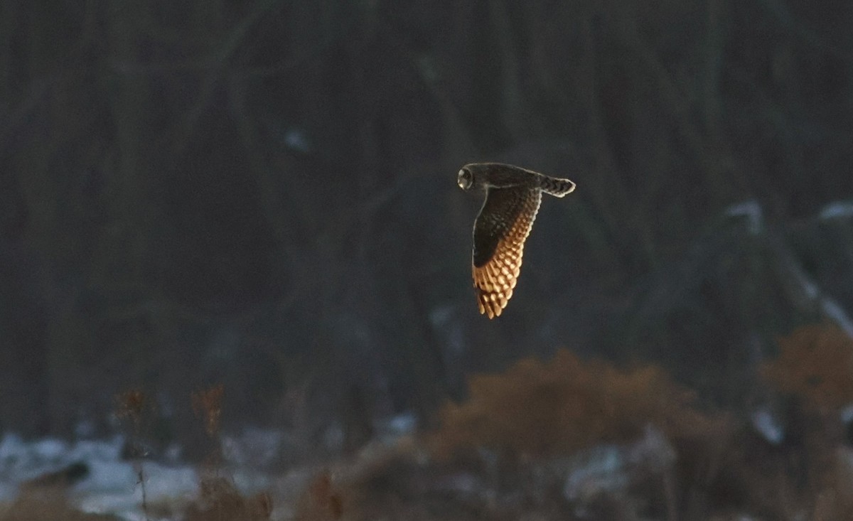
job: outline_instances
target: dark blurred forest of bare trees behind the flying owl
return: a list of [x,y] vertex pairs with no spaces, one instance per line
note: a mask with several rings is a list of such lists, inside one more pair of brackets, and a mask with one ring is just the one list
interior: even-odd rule
[[[0,431],[344,425],[560,347],[706,407],[853,307],[853,3],[0,2]],[[547,198],[477,312],[460,165]]]

